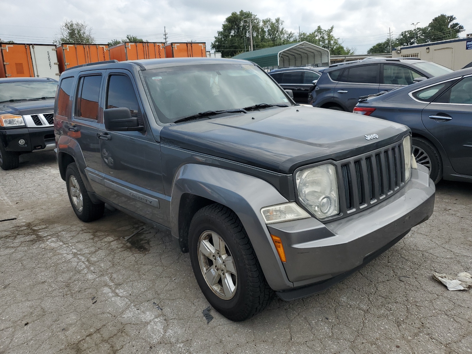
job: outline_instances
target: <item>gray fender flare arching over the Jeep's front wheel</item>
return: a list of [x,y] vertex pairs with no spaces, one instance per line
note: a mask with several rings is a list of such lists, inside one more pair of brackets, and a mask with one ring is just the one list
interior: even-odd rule
[[189,193],[227,206],[243,223],[262,271],[274,290],[293,287],[278,257],[261,208],[288,202],[274,186],[257,177],[202,164],[185,164],[172,185],[170,222],[172,236],[179,237],[179,208],[182,194]]

